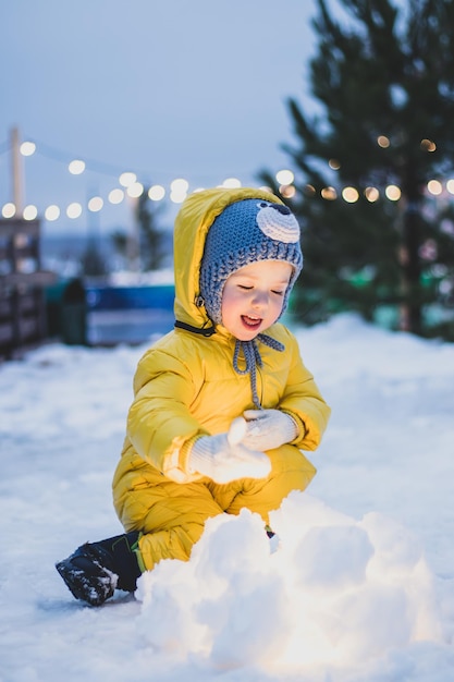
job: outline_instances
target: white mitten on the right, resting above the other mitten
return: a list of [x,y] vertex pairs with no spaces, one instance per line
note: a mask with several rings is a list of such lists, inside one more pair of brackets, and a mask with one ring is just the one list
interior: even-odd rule
[[292,442],[298,435],[295,419],[280,410],[246,410],[246,434],[242,444],[251,450],[271,450]]

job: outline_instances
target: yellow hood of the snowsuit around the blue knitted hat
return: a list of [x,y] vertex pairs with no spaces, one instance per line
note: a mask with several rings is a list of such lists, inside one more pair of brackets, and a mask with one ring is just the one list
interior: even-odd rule
[[259,198],[274,204],[283,202],[263,190],[216,187],[192,194],[175,219],[173,258],[175,270],[175,319],[199,329],[211,325],[199,296],[200,263],[208,230],[229,206],[243,199]]

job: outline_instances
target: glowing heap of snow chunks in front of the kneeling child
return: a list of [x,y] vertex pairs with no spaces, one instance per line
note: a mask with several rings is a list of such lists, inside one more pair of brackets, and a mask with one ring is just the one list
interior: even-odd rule
[[441,641],[432,575],[396,522],[378,513],[355,522],[293,492],[271,525],[270,543],[257,514],[218,516],[189,562],[145,573],[136,596],[146,643],[214,669],[314,672]]

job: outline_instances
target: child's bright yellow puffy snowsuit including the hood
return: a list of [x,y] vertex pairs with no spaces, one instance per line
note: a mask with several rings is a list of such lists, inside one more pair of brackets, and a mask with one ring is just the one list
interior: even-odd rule
[[[211,326],[198,300],[206,234],[230,203],[254,197],[281,203],[267,192],[240,188],[196,193],[183,204],[174,232],[176,320],[198,330]],[[316,470],[299,448],[318,447],[330,409],[300,360],[294,336],[281,324],[267,334],[285,351],[259,343],[261,406],[290,413],[302,425],[303,437],[267,451],[272,470],[265,479],[220,485],[189,473],[194,440],[226,431],[233,418],[254,409],[249,376],[235,372],[235,339],[224,327],[218,325],[207,337],[175,328],[139,361],[113,500],[125,531],[143,532],[144,569],[151,570],[161,559],[188,559],[210,516],[237,514],[246,507],[268,523],[268,512],[314,477]]]

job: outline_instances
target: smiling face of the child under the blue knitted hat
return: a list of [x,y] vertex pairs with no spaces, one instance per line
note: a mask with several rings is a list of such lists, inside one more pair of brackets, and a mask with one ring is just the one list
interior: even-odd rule
[[258,260],[233,272],[222,292],[222,324],[240,341],[250,341],[280,316],[292,266]]

